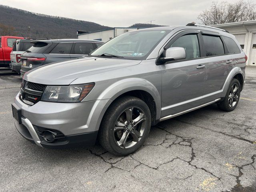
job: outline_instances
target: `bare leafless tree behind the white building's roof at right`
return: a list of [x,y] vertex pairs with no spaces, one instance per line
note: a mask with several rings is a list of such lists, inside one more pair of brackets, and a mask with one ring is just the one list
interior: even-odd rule
[[234,3],[214,1],[208,10],[198,15],[198,20],[204,25],[256,20],[256,4],[244,0]]

